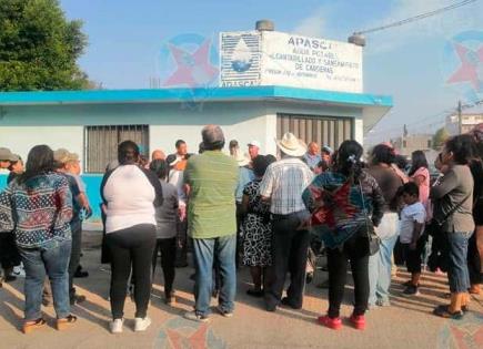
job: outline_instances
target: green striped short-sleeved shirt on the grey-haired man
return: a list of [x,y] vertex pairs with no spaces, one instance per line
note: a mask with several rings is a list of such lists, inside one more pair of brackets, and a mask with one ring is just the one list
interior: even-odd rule
[[219,151],[190,157],[184,183],[190,186],[188,230],[192,238],[215,238],[237,233],[234,194],[237,161]]

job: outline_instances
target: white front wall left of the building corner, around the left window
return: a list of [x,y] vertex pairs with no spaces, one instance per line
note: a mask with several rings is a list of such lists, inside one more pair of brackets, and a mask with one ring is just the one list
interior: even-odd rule
[[66,147],[83,154],[84,125],[149,124],[150,151],[174,151],[178,138],[187,141],[190,152],[198,152],[201,129],[220,124],[227,141],[245,144],[258,138],[265,147],[266,120],[263,102],[202,103],[189,107],[172,104],[84,104],[48,106],[8,106],[0,121],[1,146],[26,157],[37,144]]

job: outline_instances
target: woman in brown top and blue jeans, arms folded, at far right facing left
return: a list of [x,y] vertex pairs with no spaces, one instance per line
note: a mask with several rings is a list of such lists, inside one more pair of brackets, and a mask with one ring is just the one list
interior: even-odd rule
[[442,163],[449,167],[440,184],[431,188],[434,201],[433,219],[441,223],[441,234],[447,243],[447,278],[451,302],[434,309],[436,316],[461,319],[469,301],[470,276],[467,246],[475,225],[473,220],[473,176],[469,164],[474,141],[457,135],[444,145]]

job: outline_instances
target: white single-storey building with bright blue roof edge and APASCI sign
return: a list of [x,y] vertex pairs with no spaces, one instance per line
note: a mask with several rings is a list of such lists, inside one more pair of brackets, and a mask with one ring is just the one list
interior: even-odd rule
[[276,154],[274,138],[288,131],[335,148],[362,143],[392,107],[390,96],[362,92],[354,44],[278,32],[221,40],[219,88],[0,93],[0,146],[22,157],[37,144],[80,154],[95,207],[101,173],[123,140],[149,155],[174,152],[182,138],[195,153],[202,126],[213,123],[227,142],[259,140],[265,154]]

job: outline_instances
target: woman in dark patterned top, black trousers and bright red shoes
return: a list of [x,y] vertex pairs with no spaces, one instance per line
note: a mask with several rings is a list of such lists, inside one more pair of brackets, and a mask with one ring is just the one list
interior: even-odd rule
[[356,329],[365,327],[370,256],[369,236],[383,215],[384,198],[375,179],[363,171],[362,146],[355,141],[341,144],[332,171],[318,175],[302,198],[312,214],[311,232],[328,248],[329,311],[319,322],[339,329],[348,264],[354,278],[354,310],[350,318]]

